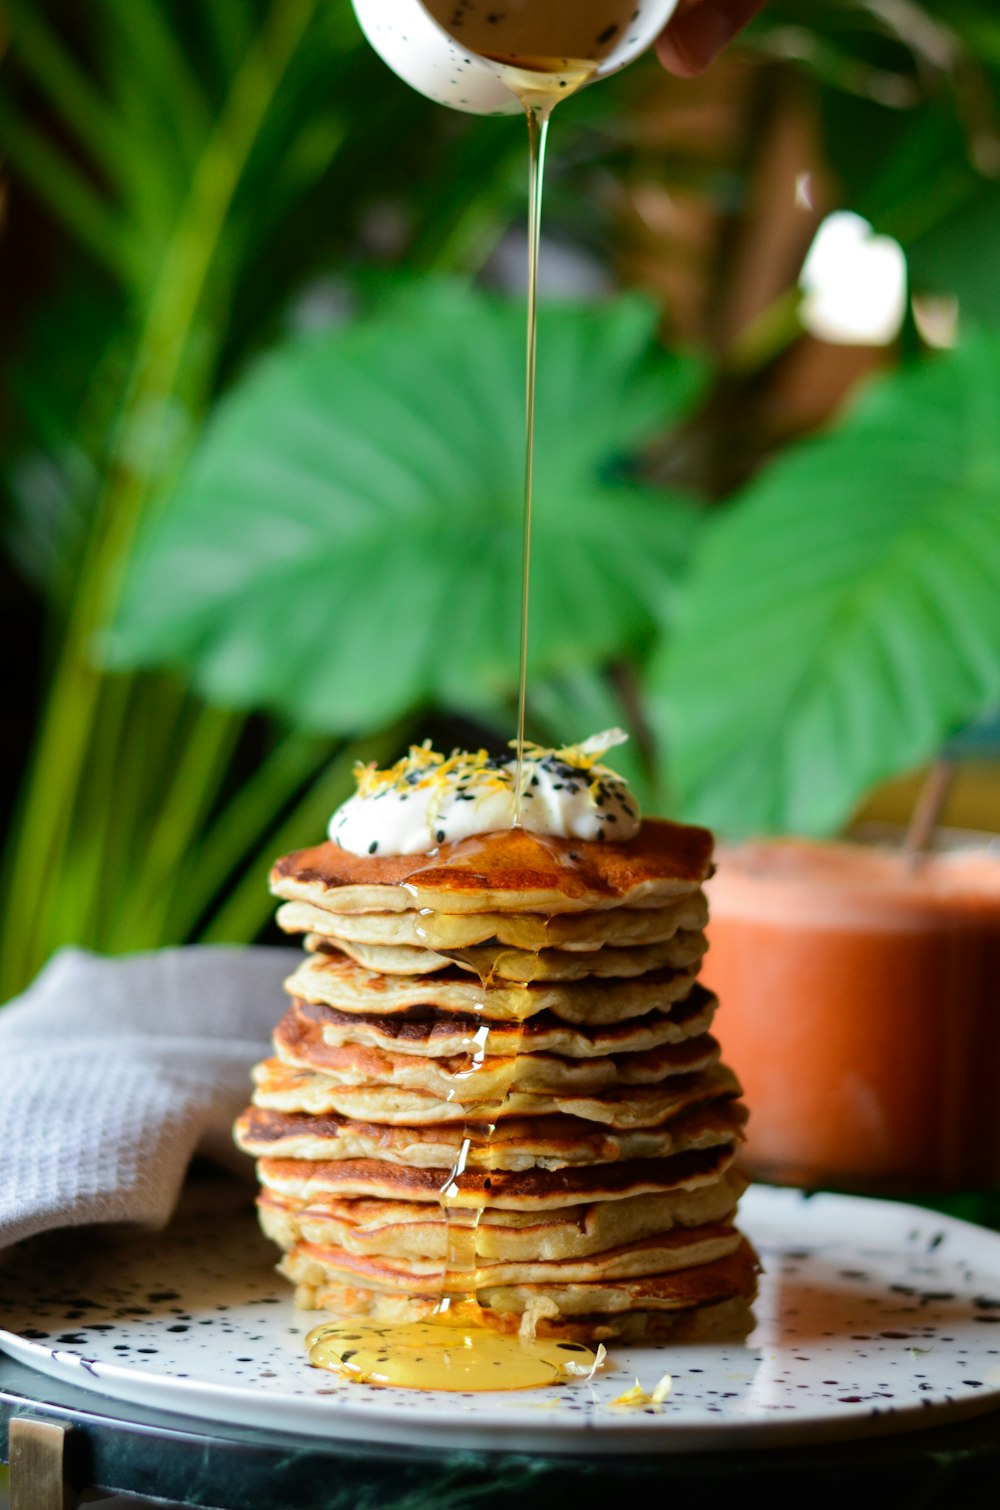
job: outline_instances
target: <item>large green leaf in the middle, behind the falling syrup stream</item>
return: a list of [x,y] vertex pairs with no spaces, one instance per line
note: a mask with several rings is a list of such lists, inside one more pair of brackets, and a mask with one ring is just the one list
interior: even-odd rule
[[[648,636],[695,512],[622,456],[689,400],[636,299],[542,311],[532,667]],[[231,394],[139,550],[119,666],[187,667],[213,702],[326,731],[517,676],[523,305],[427,285],[279,350]]]

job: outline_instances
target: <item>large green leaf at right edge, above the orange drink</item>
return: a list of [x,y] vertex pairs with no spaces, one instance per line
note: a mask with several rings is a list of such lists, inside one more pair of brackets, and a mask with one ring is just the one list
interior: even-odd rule
[[1000,340],[872,387],[751,485],[651,681],[680,805],[730,835],[832,832],[1000,705]]

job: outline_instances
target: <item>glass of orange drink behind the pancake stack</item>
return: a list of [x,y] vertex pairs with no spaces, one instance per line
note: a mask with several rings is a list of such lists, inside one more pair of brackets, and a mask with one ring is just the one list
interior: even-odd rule
[[1000,1185],[1000,844],[719,853],[704,978],[763,1178]]

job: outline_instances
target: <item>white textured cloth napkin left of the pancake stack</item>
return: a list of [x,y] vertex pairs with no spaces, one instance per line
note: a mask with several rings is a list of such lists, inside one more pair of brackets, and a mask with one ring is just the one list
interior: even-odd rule
[[162,1226],[230,1139],[284,1010],[284,948],[63,950],[0,1010],[0,1247],[91,1222]]

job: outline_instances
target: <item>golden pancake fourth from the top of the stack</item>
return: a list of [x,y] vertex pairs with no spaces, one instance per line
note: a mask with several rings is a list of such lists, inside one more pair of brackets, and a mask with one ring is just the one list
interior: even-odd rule
[[[307,947],[310,942],[307,939]],[[384,975],[340,951],[322,951],[302,960],[285,982],[285,991],[304,1001],[326,1003],[338,1012],[378,1016],[434,1007],[437,1012],[474,1013],[489,1022],[526,1022],[539,1012],[551,1012],[563,1022],[600,1025],[648,1012],[672,1012],[677,1001],[689,997],[693,983],[690,969],[654,969],[630,980],[492,983],[483,988],[453,966],[427,977]]]

